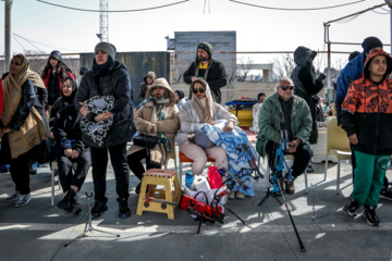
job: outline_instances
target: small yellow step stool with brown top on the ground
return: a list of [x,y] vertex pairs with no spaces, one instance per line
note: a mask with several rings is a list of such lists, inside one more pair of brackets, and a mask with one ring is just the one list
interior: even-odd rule
[[[148,192],[146,194],[147,185]],[[157,189],[157,185],[164,186],[164,189]],[[174,185],[174,190],[172,190],[172,185]],[[159,196],[157,196],[156,192],[159,192]],[[143,174],[140,194],[136,211],[137,215],[142,215],[143,211],[167,213],[169,220],[174,220],[174,206],[157,202],[145,202],[145,198],[148,197],[164,199],[167,201],[179,203],[181,191],[175,171],[150,169]]]

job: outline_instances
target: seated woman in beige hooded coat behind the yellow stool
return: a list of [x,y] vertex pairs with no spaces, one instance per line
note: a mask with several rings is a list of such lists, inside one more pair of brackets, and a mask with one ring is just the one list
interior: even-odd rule
[[[174,92],[164,78],[157,78],[146,96],[142,108],[136,111],[135,125],[139,134],[158,137],[158,142],[151,149],[134,145],[127,151],[128,166],[140,181],[145,172],[140,160],[146,159],[149,170],[160,169],[170,158],[175,158],[174,135],[180,127]],[[139,191],[140,184],[136,194]]]

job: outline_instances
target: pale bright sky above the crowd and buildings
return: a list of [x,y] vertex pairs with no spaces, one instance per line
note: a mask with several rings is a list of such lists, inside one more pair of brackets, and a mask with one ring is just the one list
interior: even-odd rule
[[[81,9],[99,9],[99,0],[46,0],[56,4]],[[143,9],[181,0],[109,0],[109,10]],[[253,4],[277,8],[321,8],[353,2],[355,0],[243,0]],[[295,2],[295,3],[293,3]],[[322,11],[272,11],[252,8],[229,0],[191,0],[188,2],[151,11],[109,13],[109,40],[118,51],[164,51],[166,36],[183,30],[236,30],[237,51],[294,51],[298,46],[327,50],[323,44],[323,23],[383,3],[383,0],[366,0],[353,5]],[[387,11],[385,11],[387,10]],[[385,10],[377,10],[387,13]],[[377,36],[389,44],[391,21],[389,14],[367,12],[350,23],[334,23],[330,27],[332,41],[362,42],[367,36]],[[0,35],[4,35],[4,2],[0,1]],[[45,51],[93,51],[98,42],[99,14],[51,7],[36,0],[14,0],[13,33],[30,40],[48,45],[34,45]],[[12,39],[12,51],[37,50],[27,41]],[[0,37],[0,53],[4,52]],[[390,52],[390,48],[385,48]],[[335,51],[360,51],[359,46],[332,46]],[[258,62],[269,62],[272,55],[257,54]],[[342,55],[346,58],[347,55]],[[333,60],[341,55],[333,55]],[[326,55],[320,55],[326,62]]]

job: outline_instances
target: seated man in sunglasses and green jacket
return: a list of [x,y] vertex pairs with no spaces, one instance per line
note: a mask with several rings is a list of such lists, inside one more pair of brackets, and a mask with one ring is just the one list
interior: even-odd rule
[[[281,124],[278,113],[284,115],[284,125],[287,130],[289,151],[295,157],[292,166],[292,182],[285,183],[285,192],[294,194],[294,179],[303,174],[309,164],[311,149],[309,136],[311,132],[311,115],[306,101],[293,95],[293,80],[282,77],[277,84],[277,92],[268,97],[259,112],[259,129],[256,150],[261,156],[268,154],[268,164],[273,170],[273,156],[281,144]],[[282,183],[281,183],[282,184]]]

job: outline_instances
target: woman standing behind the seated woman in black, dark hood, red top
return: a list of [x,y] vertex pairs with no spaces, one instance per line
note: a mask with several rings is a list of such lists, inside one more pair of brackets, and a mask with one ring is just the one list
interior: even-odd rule
[[75,79],[75,75],[62,60],[61,52],[54,50],[49,54],[47,65],[41,74],[41,78],[49,94],[48,105],[52,105],[57,98],[61,96],[62,80],[66,77]]

